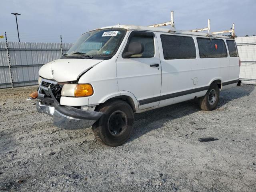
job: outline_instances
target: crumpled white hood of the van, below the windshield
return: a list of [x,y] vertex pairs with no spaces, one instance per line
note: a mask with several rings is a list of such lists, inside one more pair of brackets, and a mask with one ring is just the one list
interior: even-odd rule
[[98,59],[58,59],[44,64],[39,75],[58,82],[75,81],[78,77],[104,60]]

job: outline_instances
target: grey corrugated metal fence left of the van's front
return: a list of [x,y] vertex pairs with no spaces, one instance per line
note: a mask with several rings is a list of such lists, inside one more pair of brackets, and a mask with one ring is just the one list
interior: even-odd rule
[[[8,42],[10,69],[6,42],[0,42],[0,88],[12,87],[10,74],[14,87],[38,84],[38,70],[43,64],[61,57],[60,46],[60,43]],[[71,46],[71,43],[63,43],[63,53]]]

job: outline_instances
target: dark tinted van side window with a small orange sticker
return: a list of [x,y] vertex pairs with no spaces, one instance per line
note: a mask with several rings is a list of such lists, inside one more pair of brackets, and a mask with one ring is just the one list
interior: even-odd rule
[[197,38],[200,58],[227,57],[227,49],[223,40]]

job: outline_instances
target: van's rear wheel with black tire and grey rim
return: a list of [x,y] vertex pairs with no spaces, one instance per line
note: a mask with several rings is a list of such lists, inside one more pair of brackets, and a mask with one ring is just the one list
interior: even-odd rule
[[[199,98],[199,106],[202,110],[214,110],[219,102],[220,90],[217,84],[211,84],[205,96]],[[214,99],[215,98],[215,99]]]

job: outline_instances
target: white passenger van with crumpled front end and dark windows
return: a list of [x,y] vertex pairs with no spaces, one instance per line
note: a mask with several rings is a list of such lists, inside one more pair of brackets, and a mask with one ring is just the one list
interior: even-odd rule
[[117,25],[82,34],[39,70],[38,112],[64,129],[92,126],[108,146],[123,144],[134,113],[199,98],[213,110],[239,82],[234,39],[175,28]]

